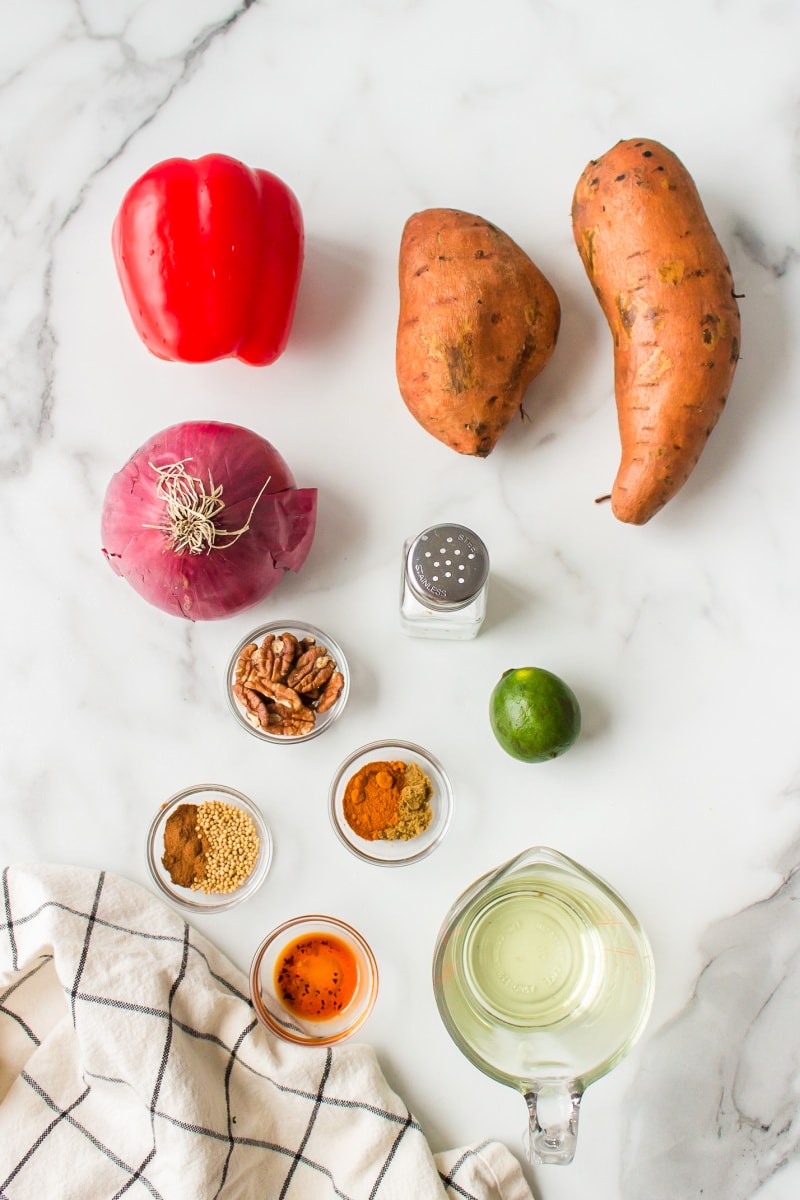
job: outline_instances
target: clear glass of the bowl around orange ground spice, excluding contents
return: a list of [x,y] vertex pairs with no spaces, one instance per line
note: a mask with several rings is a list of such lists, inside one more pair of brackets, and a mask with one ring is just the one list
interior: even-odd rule
[[[360,838],[344,818],[344,791],[351,776],[368,762],[393,760],[415,762],[428,776],[433,784],[431,793],[433,816],[427,829],[415,838],[409,838],[408,841],[385,841],[378,838],[368,841],[366,838]],[[427,858],[446,834],[453,809],[452,787],[441,763],[422,746],[401,740],[371,742],[360,750],[354,750],[333,776],[329,802],[331,823],[339,840],[357,858],[367,863],[378,863],[380,866],[408,866],[409,863],[419,863],[420,859]]]

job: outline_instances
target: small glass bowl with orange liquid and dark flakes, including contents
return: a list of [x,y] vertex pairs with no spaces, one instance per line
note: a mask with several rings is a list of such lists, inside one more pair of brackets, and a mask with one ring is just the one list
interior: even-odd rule
[[378,996],[368,943],[336,917],[284,922],[258,947],[249,994],[259,1021],[295,1045],[335,1045],[360,1028]]

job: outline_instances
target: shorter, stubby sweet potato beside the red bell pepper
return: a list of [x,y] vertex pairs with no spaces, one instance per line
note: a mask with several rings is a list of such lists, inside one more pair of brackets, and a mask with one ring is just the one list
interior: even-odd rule
[[426,209],[399,251],[397,382],[420,425],[485,458],[555,348],[561,311],[528,254],[482,217]]

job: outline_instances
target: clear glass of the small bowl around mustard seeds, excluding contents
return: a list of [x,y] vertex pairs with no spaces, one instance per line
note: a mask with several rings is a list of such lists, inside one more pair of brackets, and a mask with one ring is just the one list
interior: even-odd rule
[[[164,827],[168,817],[181,804],[199,805],[206,800],[222,800],[224,804],[243,809],[252,818],[258,833],[259,848],[255,866],[235,892],[196,892],[192,888],[182,888],[178,883],[173,883],[169,871],[166,870],[161,860],[164,852]],[[242,900],[248,900],[266,878],[271,862],[272,835],[264,817],[252,800],[248,800],[235,788],[225,787],[224,784],[197,784],[194,787],[186,787],[182,792],[170,796],[156,812],[148,834],[148,866],[156,887],[174,904],[194,913],[225,912],[241,904]]]

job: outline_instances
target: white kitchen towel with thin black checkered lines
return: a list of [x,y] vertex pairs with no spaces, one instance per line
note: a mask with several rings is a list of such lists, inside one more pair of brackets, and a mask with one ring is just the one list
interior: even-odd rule
[[498,1142],[432,1156],[369,1046],[273,1038],[144,888],[65,866],[1,884],[2,1200],[533,1200]]

